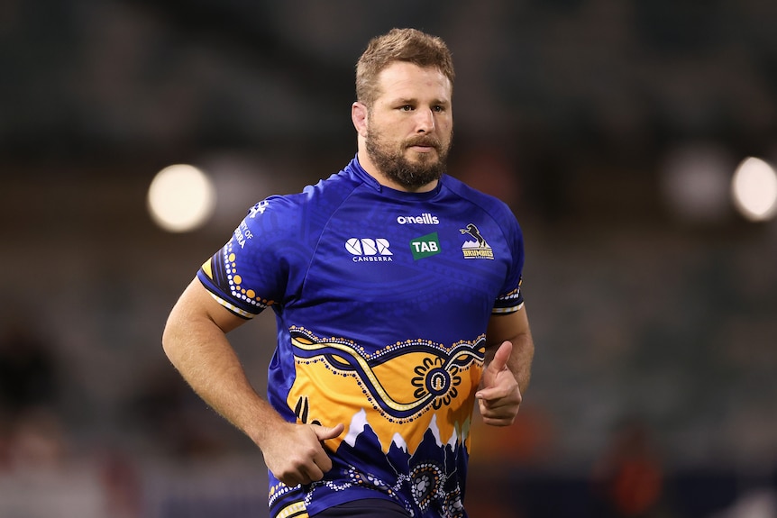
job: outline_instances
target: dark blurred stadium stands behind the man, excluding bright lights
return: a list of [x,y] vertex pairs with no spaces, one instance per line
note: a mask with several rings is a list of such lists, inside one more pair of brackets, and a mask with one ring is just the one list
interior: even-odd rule
[[[266,515],[261,455],[161,329],[248,206],[352,157],[353,63],[414,26],[454,54],[451,173],[526,233],[534,381],[515,428],[479,428],[473,518],[603,516],[623,423],[660,476],[630,498],[650,516],[774,516],[777,226],[727,196],[742,159],[777,161],[774,20],[767,0],[5,0],[0,515]],[[215,182],[196,232],[146,210],[173,163]],[[259,387],[273,332],[234,333]]]

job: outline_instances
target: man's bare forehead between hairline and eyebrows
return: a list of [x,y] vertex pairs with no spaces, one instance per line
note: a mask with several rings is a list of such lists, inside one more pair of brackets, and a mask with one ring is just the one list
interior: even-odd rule
[[450,102],[451,81],[437,68],[395,61],[378,76],[378,99],[434,99]]

